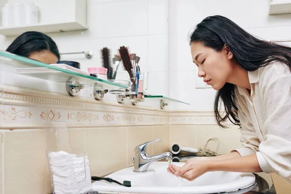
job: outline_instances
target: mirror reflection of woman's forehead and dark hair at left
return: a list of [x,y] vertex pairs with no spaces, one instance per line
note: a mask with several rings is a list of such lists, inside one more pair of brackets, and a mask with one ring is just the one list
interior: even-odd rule
[[6,51],[46,64],[56,64],[60,60],[56,43],[42,32],[24,32]]

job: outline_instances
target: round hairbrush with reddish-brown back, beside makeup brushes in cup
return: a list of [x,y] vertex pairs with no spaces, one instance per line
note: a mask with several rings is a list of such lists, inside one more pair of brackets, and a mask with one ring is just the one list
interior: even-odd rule
[[123,70],[129,73],[130,81],[132,81],[132,90],[135,91],[135,80],[132,79],[134,76],[132,73],[133,63],[130,58],[129,48],[121,46],[117,51],[121,59]]

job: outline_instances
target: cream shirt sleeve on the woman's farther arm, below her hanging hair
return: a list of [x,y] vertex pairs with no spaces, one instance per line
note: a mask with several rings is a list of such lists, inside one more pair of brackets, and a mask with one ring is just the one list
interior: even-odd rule
[[259,151],[259,138],[256,133],[256,130],[252,123],[250,122],[250,114],[246,105],[242,100],[242,96],[238,94],[238,89],[236,88],[236,105],[238,107],[238,117],[241,122],[241,142],[242,146],[238,149],[232,149],[230,152],[238,151],[241,156],[247,156],[251,154],[255,154]]

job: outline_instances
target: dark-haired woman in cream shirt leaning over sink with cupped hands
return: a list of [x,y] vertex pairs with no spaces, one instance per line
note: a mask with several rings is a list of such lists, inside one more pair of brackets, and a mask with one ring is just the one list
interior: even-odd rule
[[205,18],[190,39],[198,76],[217,90],[216,122],[241,126],[242,147],[168,171],[188,180],[209,171],[274,172],[291,183],[291,48],[259,40],[223,16]]

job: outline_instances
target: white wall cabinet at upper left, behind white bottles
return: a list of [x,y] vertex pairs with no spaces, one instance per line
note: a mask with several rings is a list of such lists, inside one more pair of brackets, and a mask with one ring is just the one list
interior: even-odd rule
[[[4,0],[7,2],[7,0]],[[31,26],[0,27],[0,34],[16,36],[26,31],[66,32],[88,29],[86,0],[8,0],[9,3],[34,2],[39,10],[39,23]],[[4,3],[0,3],[0,8]]]

